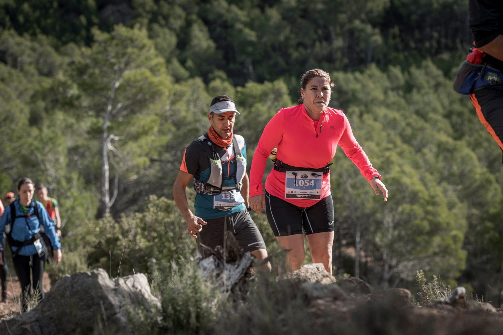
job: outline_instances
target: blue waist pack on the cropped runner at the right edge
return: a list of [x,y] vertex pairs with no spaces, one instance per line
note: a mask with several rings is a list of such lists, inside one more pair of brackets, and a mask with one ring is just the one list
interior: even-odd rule
[[484,86],[503,85],[503,74],[498,69],[483,64],[473,64],[465,60],[456,74],[454,90],[461,94],[472,94]]

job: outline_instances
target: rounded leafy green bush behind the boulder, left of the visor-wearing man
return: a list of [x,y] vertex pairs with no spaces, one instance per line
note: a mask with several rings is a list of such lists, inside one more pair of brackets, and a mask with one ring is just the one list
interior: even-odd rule
[[187,234],[185,221],[175,201],[150,196],[146,209],[119,220],[100,219],[91,229],[90,267],[111,268],[112,276],[151,273],[151,265],[169,267],[169,260],[192,259],[196,242]]

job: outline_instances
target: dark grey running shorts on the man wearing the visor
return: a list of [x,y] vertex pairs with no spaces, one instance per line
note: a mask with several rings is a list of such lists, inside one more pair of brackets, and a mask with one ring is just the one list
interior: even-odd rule
[[207,247],[215,249],[216,246],[222,246],[224,242],[224,224],[227,225],[227,231],[233,232],[237,243],[244,251],[254,251],[266,249],[264,239],[260,234],[259,228],[251,219],[248,211],[230,214],[223,217],[205,220],[206,226],[198,234],[200,243]]

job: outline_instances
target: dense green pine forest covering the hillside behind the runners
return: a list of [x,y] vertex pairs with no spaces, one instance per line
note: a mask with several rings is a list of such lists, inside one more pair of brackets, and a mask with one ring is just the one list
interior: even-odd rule
[[234,97],[251,162],[299,76],[321,67],[390,192],[373,195],[339,150],[335,273],[385,288],[423,269],[499,306],[501,151],[452,89],[467,19],[465,0],[0,0],[0,192],[48,185],[59,274],[117,271],[123,250],[122,274],[191,259],[170,199],[211,98]]

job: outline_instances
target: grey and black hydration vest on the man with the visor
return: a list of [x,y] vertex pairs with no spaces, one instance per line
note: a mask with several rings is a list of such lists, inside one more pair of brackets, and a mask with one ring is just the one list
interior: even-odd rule
[[[216,146],[207,137],[203,135],[197,139],[203,145],[204,151],[210,160],[210,177],[207,181],[203,182],[194,178],[194,189],[196,192],[207,195],[218,195],[225,191],[236,190],[240,191],[243,185],[242,179],[246,173],[246,159],[241,155],[236,138],[232,137],[232,150],[234,151],[234,158],[228,161],[222,161],[217,153]],[[223,171],[222,163],[231,162],[235,163],[234,174],[229,177],[234,178],[234,186],[222,186],[223,184]]]

